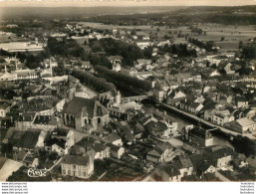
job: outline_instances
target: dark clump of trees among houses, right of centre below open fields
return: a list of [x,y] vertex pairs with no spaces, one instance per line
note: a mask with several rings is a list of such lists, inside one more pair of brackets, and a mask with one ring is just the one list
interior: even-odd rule
[[187,49],[186,44],[179,45],[164,45],[159,48],[160,52],[170,53],[177,55],[178,57],[197,57],[196,51],[194,49]]

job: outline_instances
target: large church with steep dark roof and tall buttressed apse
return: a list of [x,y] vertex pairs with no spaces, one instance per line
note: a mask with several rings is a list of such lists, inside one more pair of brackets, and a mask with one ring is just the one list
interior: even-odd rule
[[92,132],[108,124],[107,108],[96,99],[73,97],[63,108],[64,124],[78,131]]

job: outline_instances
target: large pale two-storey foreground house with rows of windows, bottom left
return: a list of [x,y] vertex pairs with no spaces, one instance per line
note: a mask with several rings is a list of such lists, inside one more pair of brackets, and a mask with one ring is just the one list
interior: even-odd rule
[[62,159],[62,175],[90,178],[94,173],[94,157],[86,155],[65,155]]

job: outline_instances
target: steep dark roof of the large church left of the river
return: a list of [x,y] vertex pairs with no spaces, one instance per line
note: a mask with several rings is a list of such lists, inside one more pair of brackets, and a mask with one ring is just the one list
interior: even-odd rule
[[95,116],[106,115],[107,109],[99,101],[84,97],[73,97],[73,99],[64,106],[64,113],[73,114],[75,116],[88,115],[93,118]]

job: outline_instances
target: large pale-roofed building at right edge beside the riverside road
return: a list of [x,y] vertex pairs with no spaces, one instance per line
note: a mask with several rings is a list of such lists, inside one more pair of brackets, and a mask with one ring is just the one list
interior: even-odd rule
[[243,117],[225,124],[227,128],[236,132],[244,133],[247,131],[254,132],[256,130],[256,122],[250,118]]

